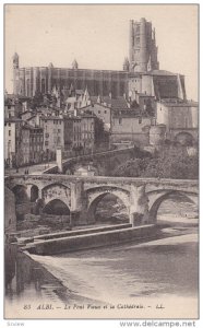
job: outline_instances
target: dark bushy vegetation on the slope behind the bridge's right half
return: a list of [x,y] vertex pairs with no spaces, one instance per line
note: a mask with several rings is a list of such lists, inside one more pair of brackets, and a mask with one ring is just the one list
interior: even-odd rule
[[166,147],[153,156],[127,161],[115,176],[195,179],[199,176],[198,154],[189,156],[184,147]]

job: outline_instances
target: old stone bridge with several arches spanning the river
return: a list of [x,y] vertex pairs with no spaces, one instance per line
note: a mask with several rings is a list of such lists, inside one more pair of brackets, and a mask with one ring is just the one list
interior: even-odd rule
[[180,179],[16,174],[5,178],[5,186],[14,192],[16,202],[28,199],[41,211],[60,201],[73,224],[93,223],[96,208],[107,194],[122,201],[132,225],[156,223],[158,208],[171,196],[181,195],[196,204],[199,196],[198,180]]

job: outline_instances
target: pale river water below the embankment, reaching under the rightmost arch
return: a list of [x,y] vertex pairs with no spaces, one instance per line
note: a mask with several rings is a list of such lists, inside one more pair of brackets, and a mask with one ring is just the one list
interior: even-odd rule
[[[186,216],[187,213],[187,216]],[[163,239],[59,256],[33,256],[5,245],[7,300],[133,298],[198,295],[198,218],[191,203],[166,201]],[[165,224],[166,225],[166,224]],[[48,270],[46,270],[46,269]],[[61,282],[60,282],[61,281]]]

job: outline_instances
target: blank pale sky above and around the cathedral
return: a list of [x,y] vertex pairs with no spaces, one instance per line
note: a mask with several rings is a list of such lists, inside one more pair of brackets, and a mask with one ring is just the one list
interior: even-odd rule
[[129,20],[145,17],[156,28],[160,69],[186,75],[188,98],[198,101],[198,5],[7,4],[5,89],[12,92],[12,56],[21,67],[122,70],[129,56]]

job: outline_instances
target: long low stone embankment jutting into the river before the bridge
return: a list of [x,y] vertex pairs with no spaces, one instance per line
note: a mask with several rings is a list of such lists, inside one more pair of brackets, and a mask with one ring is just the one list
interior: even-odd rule
[[35,237],[24,250],[38,255],[53,255],[75,250],[91,249],[101,246],[118,245],[128,242],[140,242],[155,236],[154,224],[132,227],[130,224],[65,232]]

